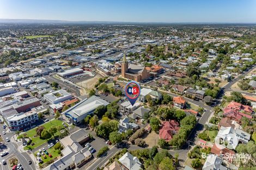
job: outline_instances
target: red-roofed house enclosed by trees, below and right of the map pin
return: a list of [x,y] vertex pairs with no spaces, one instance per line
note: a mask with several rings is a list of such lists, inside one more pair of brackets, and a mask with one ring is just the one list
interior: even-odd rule
[[169,142],[173,135],[179,130],[179,123],[171,120],[162,122],[162,128],[159,130],[159,138]]

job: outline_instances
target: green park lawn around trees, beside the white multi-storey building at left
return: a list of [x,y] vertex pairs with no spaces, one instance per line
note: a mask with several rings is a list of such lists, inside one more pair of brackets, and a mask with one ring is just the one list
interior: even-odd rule
[[[45,127],[45,129],[47,129],[47,130],[49,130],[52,126],[54,126],[54,127],[60,126],[62,129],[64,129],[64,126],[62,125],[62,121],[59,121],[59,120],[53,120],[53,121],[47,122],[45,124],[42,124],[42,126]],[[48,142],[48,140],[51,140],[51,138],[53,138],[53,136],[52,136],[48,140],[45,140],[44,138],[41,138],[40,136],[38,136],[36,134],[35,129],[36,128],[26,131],[25,133],[21,134],[19,137],[19,138],[29,137],[32,139],[32,142],[28,146],[24,147],[25,150],[34,149],[36,147],[39,147],[42,144]],[[59,131],[57,131],[57,133],[54,134],[54,136],[59,136],[59,135],[60,135]]]

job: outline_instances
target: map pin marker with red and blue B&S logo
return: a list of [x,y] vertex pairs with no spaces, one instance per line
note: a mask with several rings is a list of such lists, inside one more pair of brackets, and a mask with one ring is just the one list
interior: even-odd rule
[[136,81],[130,81],[125,86],[125,96],[130,101],[131,105],[135,104],[141,93],[141,87]]

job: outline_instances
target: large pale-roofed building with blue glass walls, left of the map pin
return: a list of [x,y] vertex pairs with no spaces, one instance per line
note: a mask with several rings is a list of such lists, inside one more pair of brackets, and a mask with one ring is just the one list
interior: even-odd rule
[[66,110],[62,114],[66,117],[69,117],[74,124],[80,124],[83,122],[83,119],[86,118],[87,115],[93,114],[94,110],[102,105],[108,105],[109,103],[105,100],[92,96],[88,99],[82,100],[80,103],[77,103],[72,108]]

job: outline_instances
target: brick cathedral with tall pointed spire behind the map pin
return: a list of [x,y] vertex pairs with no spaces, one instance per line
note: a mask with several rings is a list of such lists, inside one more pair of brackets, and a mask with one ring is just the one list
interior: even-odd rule
[[150,73],[144,66],[128,64],[124,53],[124,59],[121,64],[121,77],[134,81],[142,81],[149,78]]

